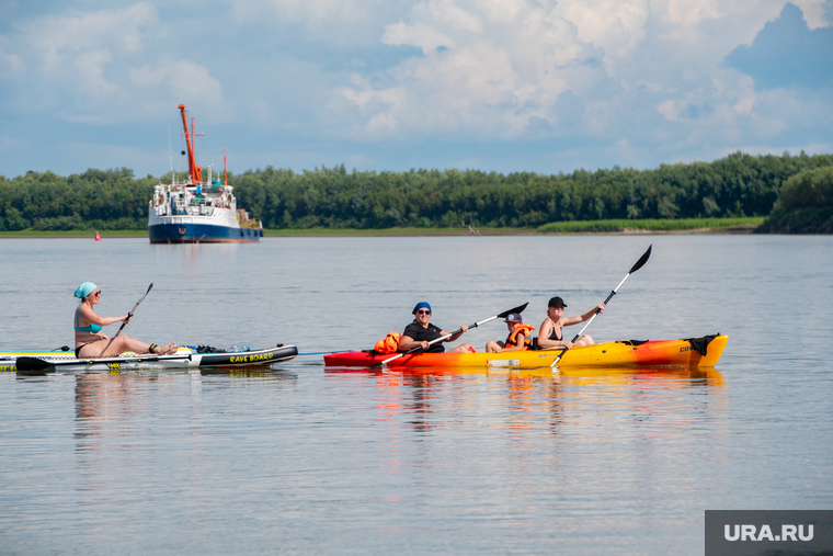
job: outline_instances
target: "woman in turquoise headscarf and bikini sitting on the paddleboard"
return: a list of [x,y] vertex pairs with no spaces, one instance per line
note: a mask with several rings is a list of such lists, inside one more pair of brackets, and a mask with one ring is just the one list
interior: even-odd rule
[[76,290],[76,297],[81,299],[81,305],[76,309],[73,328],[76,330],[76,359],[85,358],[111,358],[133,351],[135,353],[153,353],[156,355],[168,355],[176,353],[176,344],[171,342],[170,345],[157,345],[156,343],[145,343],[134,340],[129,336],[118,336],[109,338],[101,329],[105,326],[116,322],[130,321],[130,316],[124,317],[100,317],[93,310],[93,306],[99,304],[101,290],[92,282],[84,282]]

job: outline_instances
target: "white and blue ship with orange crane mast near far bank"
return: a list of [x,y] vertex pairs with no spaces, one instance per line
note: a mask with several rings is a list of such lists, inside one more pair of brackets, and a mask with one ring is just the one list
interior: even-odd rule
[[[180,104],[185,143],[189,157],[189,179],[176,182],[176,173],[171,172],[170,184],[161,182],[153,189],[153,198],[148,209],[148,236],[151,243],[229,243],[259,241],[263,237],[263,225],[250,218],[248,213],[237,207],[233,188],[194,160],[194,124],[189,132],[185,105]],[[224,172],[225,173],[225,172]],[[225,183],[224,183],[225,182]]]

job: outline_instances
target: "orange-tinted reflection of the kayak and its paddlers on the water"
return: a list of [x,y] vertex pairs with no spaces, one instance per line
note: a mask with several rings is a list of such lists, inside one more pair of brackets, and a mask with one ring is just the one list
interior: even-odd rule
[[[503,429],[511,439],[658,434],[724,419],[726,381],[714,368],[536,370],[327,367],[342,387],[375,387],[379,420],[425,434],[437,429]],[[344,383],[347,384],[344,384]],[[640,433],[641,434],[641,433]]]

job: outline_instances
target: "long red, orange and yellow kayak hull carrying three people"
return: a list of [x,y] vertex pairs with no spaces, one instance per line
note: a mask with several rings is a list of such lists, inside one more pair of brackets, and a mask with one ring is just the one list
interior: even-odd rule
[[[723,353],[728,336],[710,334],[681,340],[625,340],[569,349],[559,367],[688,366],[714,367]],[[414,353],[390,362],[391,367],[523,367],[548,366],[561,349],[546,351],[509,351],[501,353]],[[370,367],[391,354],[374,351],[349,351],[324,355],[326,366]]]

